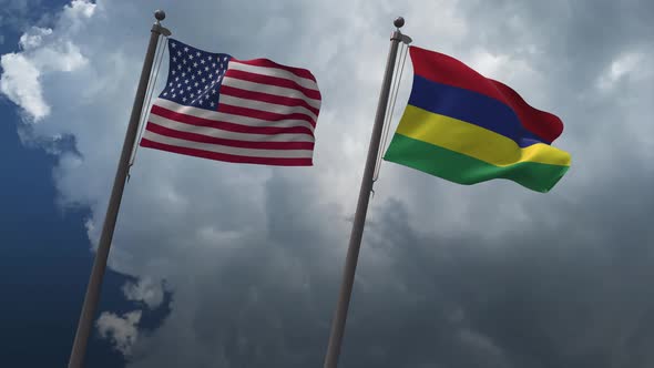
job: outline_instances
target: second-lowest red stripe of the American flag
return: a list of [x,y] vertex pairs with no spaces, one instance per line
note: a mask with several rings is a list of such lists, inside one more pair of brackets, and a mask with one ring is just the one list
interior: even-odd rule
[[145,130],[156,134],[200,143],[210,143],[229,147],[253,149],[253,150],[314,150],[314,142],[249,142],[227,140],[200,133],[182,132],[170,127],[147,122]]

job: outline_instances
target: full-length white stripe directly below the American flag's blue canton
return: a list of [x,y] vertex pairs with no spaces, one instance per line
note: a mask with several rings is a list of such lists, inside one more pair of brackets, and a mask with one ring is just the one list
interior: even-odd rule
[[268,122],[260,119],[241,116],[234,114],[226,114],[224,112],[211,111],[205,109],[198,109],[193,106],[181,105],[166,99],[156,99],[155,105],[160,108],[171,110],[185,115],[196,116],[206,120],[221,121],[226,123],[234,123],[247,126],[273,126],[273,127],[292,127],[292,126],[305,126],[314,132],[314,126],[304,120],[279,120]]

